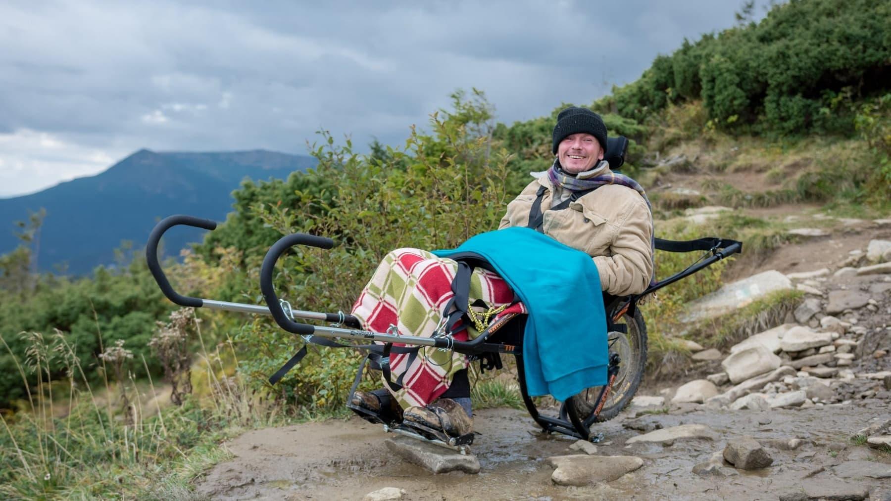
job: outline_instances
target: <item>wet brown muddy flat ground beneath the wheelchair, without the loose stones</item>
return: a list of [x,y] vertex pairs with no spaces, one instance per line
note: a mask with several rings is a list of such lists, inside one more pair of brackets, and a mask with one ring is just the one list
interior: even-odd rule
[[[553,484],[553,468],[545,459],[577,454],[568,449],[575,440],[536,432],[524,411],[478,412],[474,424],[481,434],[472,447],[482,466],[478,474],[434,475],[405,463],[390,456],[384,445],[392,434],[353,418],[247,432],[226,444],[233,459],[200,477],[196,488],[214,499],[362,499],[385,487],[404,489],[407,500],[778,499],[801,491],[808,482],[812,489],[866,486],[873,498],[884,499],[891,497],[891,479],[862,476],[843,466],[854,461],[891,464],[891,457],[849,440],[876,416],[891,417],[887,402],[762,412],[695,405],[668,414],[626,412],[598,425],[604,443],[597,454],[641,457],[644,464],[617,481],[592,487]],[[718,439],[625,445],[641,430],[678,424],[706,424]],[[756,440],[798,438],[803,444],[794,450],[768,448],[773,465],[763,470],[727,467],[723,475],[706,476],[691,472],[723,450],[728,439],[744,435]]]

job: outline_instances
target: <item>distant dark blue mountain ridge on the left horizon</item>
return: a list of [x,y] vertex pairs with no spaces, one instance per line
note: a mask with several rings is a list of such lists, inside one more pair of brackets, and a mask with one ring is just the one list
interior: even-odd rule
[[[114,249],[122,240],[144,246],[160,218],[191,214],[222,222],[233,204],[232,191],[244,179],[287,179],[315,164],[315,158],[306,155],[262,149],[208,153],[140,149],[101,174],[0,199],[0,254],[19,245],[12,222],[27,220],[29,210],[44,207],[40,269],[67,263],[70,273],[84,274],[113,263]],[[168,255],[200,241],[203,232],[171,230],[164,241]]]

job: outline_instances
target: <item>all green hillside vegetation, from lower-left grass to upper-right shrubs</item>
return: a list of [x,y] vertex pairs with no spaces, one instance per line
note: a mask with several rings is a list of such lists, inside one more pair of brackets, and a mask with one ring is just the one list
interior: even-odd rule
[[[639,80],[590,103],[610,134],[633,139],[623,172],[650,192],[659,237],[746,243],[738,263],[667,287],[645,306],[654,361],[683,356],[669,334],[684,303],[790,238],[781,226],[744,214],[702,226],[678,222],[683,208],[821,203],[838,214],[891,208],[888,8],[878,1],[777,5],[759,23],[658,57]],[[277,290],[299,309],[348,311],[388,251],[454,247],[495,229],[528,173],[550,166],[551,131],[562,106],[548,117],[504,125],[495,122],[484,93],[452,98],[429,125],[412,128],[403,147],[375,144],[360,155],[350,141],[321,133],[314,169],[286,181],[243,183],[227,221],[184,263],[168,263],[168,276],[184,294],[262,303],[258,271],[267,248],[283,234],[309,232],[334,238],[336,246],[284,258]],[[700,193],[674,193],[668,185],[678,180]],[[139,255],[89,279],[37,276],[29,262],[32,234],[26,228],[18,254],[0,258],[0,364],[8,373],[0,378],[7,400],[0,405],[8,409],[0,456],[10,465],[0,471],[4,495],[169,497],[187,492],[190,474],[223,456],[213,446],[228,434],[343,412],[360,359],[355,352],[310,349],[271,388],[266,377],[299,349],[299,339],[270,319],[200,311],[200,318],[188,317],[192,323],[177,324],[186,314],[168,317],[173,307]],[[696,257],[659,253],[658,276]],[[762,306],[781,309],[795,300],[776,297]],[[736,320],[745,327],[747,319]],[[726,342],[714,335],[697,340]],[[194,362],[193,373],[178,360]],[[154,384],[163,378],[193,394],[181,395],[182,406],[137,412],[150,375]],[[108,387],[102,404],[86,391],[97,384]],[[53,399],[71,407],[53,406]]]

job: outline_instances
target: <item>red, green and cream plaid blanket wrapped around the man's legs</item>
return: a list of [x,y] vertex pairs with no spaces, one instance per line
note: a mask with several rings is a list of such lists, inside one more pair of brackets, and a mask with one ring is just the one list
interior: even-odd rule
[[[352,314],[365,330],[429,337],[443,318],[443,308],[454,294],[452,279],[458,269],[454,260],[427,251],[401,248],[389,253],[374,272],[353,305]],[[511,287],[490,271],[476,269],[470,278],[470,303],[481,299],[486,310],[511,303]],[[475,308],[475,307],[471,307]],[[482,308],[475,308],[483,311]],[[525,313],[522,303],[511,305],[492,321],[508,313]],[[478,335],[472,326],[454,335],[467,341]],[[394,343],[394,346],[405,344]],[[418,352],[390,355],[392,380],[402,384],[393,395],[403,408],[424,407],[446,392],[454,374],[468,368],[466,355],[422,347]],[[385,385],[386,386],[386,385]]]

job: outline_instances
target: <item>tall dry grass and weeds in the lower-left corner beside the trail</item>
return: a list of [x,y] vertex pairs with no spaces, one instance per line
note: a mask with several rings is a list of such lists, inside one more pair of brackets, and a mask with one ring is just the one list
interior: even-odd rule
[[[28,389],[25,408],[0,415],[4,499],[188,496],[194,474],[227,457],[222,440],[286,422],[237,378],[212,377],[211,398],[187,396],[182,406],[169,407],[153,398],[151,379],[148,388],[135,383],[134,374],[149,376],[144,360],[141,368],[128,367],[115,389],[102,377],[107,370],[80,363],[66,335],[27,338],[27,357],[4,366]],[[208,363],[220,358],[200,356]],[[28,370],[44,378],[32,385]],[[121,400],[132,405],[119,409]]]

